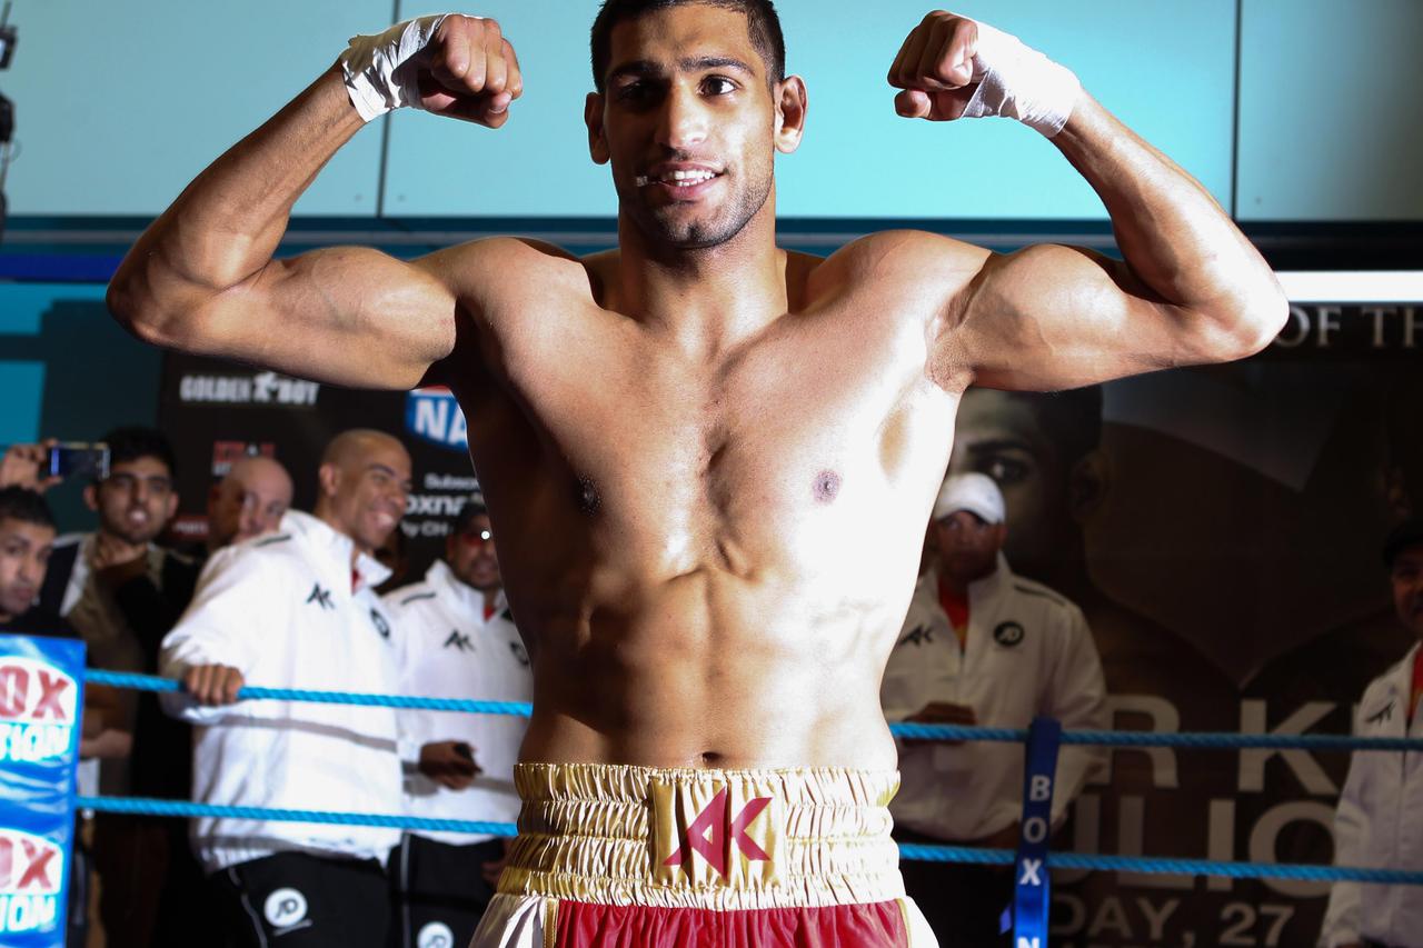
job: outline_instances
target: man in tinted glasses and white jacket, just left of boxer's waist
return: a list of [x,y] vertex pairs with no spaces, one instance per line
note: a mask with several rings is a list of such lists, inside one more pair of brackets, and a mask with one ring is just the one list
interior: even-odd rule
[[[421,582],[386,595],[403,636],[401,692],[425,697],[532,702],[534,675],[504,599],[490,512],[481,495],[465,501]],[[421,744],[420,767],[406,776],[411,816],[514,823],[519,796],[514,764],[527,717],[403,710],[401,730]],[[393,857],[403,948],[462,947],[474,937],[508,837],[407,833]],[[443,941],[441,941],[443,939]]]

